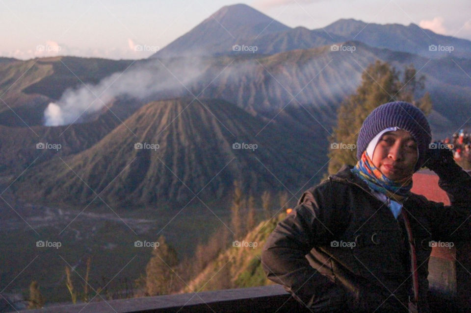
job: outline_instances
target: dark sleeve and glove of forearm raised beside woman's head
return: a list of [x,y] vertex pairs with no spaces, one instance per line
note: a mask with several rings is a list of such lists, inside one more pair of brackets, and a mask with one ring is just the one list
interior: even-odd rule
[[458,164],[434,169],[439,176],[438,185],[450,199],[449,206],[433,202],[428,216],[436,240],[471,240],[471,176]]

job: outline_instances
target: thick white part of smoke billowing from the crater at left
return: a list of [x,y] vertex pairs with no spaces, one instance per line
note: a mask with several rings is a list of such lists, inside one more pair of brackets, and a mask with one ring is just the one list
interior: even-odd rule
[[[162,65],[163,63],[163,65]],[[101,110],[118,96],[144,99],[162,92],[187,95],[190,86],[204,74],[200,59],[178,59],[173,62],[149,60],[134,64],[127,71],[116,72],[97,85],[85,84],[67,89],[59,101],[51,102],[44,111],[45,125],[67,125]]]

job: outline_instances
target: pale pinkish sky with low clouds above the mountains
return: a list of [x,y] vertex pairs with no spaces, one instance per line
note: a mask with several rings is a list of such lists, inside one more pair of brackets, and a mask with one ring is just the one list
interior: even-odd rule
[[353,18],[471,40],[470,0],[0,0],[0,56],[147,58],[236,3],[290,27]]

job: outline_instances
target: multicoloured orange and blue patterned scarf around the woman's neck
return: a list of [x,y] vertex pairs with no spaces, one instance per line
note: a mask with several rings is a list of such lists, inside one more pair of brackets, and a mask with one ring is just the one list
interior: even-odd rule
[[362,158],[351,171],[363,179],[371,189],[383,193],[395,201],[402,202],[404,197],[411,194],[412,174],[401,180],[389,179],[374,166],[366,150],[363,151]]

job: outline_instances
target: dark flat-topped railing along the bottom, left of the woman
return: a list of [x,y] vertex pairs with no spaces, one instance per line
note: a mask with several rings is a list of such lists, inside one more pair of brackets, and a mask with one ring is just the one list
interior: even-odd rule
[[20,313],[304,312],[283,287],[263,286],[50,306]]

